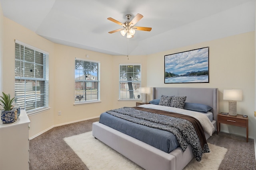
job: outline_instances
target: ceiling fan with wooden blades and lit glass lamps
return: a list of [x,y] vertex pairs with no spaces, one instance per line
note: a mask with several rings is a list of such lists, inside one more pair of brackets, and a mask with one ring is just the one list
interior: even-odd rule
[[134,37],[135,30],[140,30],[140,31],[151,31],[152,28],[150,27],[136,27],[134,26],[138,21],[140,21],[143,16],[141,14],[137,14],[131,21],[130,21],[131,15],[127,14],[126,19],[124,23],[121,23],[113,18],[108,18],[108,20],[113,21],[114,23],[117,23],[119,25],[122,25],[124,28],[116,29],[114,31],[110,31],[108,33],[115,33],[117,31],[120,31],[120,33],[124,36],[126,33],[127,38],[132,38]]

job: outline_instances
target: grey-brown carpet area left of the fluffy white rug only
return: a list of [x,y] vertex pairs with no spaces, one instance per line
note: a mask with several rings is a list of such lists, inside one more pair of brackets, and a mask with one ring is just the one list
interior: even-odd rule
[[63,138],[92,131],[92,123],[98,120],[90,119],[54,127],[30,140],[29,169],[88,170]]

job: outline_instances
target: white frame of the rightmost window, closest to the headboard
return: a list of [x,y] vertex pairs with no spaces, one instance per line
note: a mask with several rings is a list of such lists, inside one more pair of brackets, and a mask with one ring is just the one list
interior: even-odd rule
[[[140,66],[140,72],[139,72],[140,80],[121,80],[121,77],[120,77],[120,75],[121,75],[120,66],[129,66],[129,65]],[[141,87],[141,70],[142,70],[142,64],[141,63],[120,63],[119,64],[119,87],[118,87],[119,88],[119,92],[118,92],[118,100],[121,100],[121,101],[138,101],[138,100],[141,100],[141,96],[140,96],[140,98],[138,98],[138,97],[136,98],[135,97],[136,95],[137,96],[140,95],[139,88]],[[128,82],[139,83],[139,86],[137,86],[137,88],[136,88],[138,90],[135,89],[136,90],[136,95],[134,95],[134,98],[121,98],[121,86],[122,86],[121,83],[128,83]],[[136,85],[134,85],[134,86],[136,86]],[[134,93],[134,87],[133,87],[133,93]]]

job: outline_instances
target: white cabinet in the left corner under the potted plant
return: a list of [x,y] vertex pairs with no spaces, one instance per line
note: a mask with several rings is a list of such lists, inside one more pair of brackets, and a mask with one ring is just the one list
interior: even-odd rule
[[25,110],[14,123],[0,120],[0,170],[29,170],[29,123]]

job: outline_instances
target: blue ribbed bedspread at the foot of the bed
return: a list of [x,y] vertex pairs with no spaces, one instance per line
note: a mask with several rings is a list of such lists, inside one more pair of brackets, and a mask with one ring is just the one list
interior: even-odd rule
[[168,131],[139,125],[137,123],[115,117],[106,112],[100,115],[100,123],[167,153],[180,146],[176,137]]

